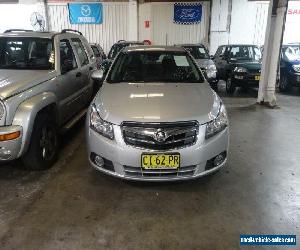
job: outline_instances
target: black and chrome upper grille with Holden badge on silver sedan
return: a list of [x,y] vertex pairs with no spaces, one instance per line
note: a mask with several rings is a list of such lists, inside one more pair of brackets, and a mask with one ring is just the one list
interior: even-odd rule
[[193,145],[197,140],[197,122],[180,123],[132,123],[122,125],[123,138],[127,145],[168,150]]

